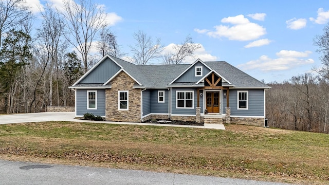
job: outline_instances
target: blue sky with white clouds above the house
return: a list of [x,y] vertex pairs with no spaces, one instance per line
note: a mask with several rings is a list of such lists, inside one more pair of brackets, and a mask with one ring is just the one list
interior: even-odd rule
[[[266,82],[321,67],[313,39],[329,21],[328,1],[103,1],[111,30],[131,57],[133,33],[161,38],[166,51],[187,35],[202,48],[195,58],[226,61]],[[61,0],[27,0],[34,5]],[[33,9],[35,14],[38,10]],[[159,61],[153,61],[158,63]]]

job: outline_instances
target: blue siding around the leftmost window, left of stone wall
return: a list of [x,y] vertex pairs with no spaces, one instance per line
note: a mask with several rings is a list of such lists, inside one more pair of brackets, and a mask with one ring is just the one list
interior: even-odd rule
[[83,116],[84,113],[93,113],[94,115],[105,116],[105,90],[97,89],[97,109],[87,109],[87,90],[96,89],[76,89],[77,90],[77,116]]

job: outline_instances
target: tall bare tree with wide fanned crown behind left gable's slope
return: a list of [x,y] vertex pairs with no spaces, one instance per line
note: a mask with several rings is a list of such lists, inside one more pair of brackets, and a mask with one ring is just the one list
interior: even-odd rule
[[91,0],[77,0],[77,3],[64,0],[63,3],[64,11],[62,13],[67,22],[67,29],[72,36],[67,39],[82,55],[84,71],[87,71],[89,67],[88,53],[96,33],[105,22],[104,11]]

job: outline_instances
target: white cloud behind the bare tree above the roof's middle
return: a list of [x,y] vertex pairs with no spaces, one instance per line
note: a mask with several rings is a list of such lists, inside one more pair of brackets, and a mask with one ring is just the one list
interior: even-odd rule
[[[168,46],[165,46],[163,48],[162,54],[166,54],[166,53],[174,53],[174,49],[173,46],[176,46],[176,44],[169,44]],[[216,61],[218,60],[218,58],[216,56],[213,56],[210,54],[209,51],[206,51],[206,49],[204,48],[203,45],[200,45],[201,47],[196,49],[194,51],[194,58],[193,57],[187,57],[185,60],[185,63],[193,63],[196,59],[200,59],[202,61]]]

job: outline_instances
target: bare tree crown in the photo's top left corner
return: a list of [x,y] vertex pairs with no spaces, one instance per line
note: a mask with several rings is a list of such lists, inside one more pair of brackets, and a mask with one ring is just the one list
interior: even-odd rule
[[28,7],[22,5],[22,2],[22,0],[0,1],[0,46],[5,32],[31,18],[31,12]]

